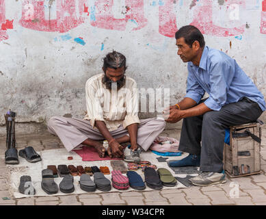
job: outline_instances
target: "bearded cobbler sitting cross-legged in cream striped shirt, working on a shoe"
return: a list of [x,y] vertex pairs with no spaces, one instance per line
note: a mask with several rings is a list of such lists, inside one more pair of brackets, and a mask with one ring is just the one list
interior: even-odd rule
[[[138,162],[141,149],[147,151],[152,142],[165,127],[160,118],[139,120],[137,83],[124,75],[126,57],[113,51],[103,61],[103,73],[88,79],[85,85],[87,114],[85,118],[53,116],[48,130],[57,135],[67,151],[80,144],[93,146],[99,157],[123,157],[120,144],[131,143],[127,162]],[[102,142],[107,140],[105,149]]]

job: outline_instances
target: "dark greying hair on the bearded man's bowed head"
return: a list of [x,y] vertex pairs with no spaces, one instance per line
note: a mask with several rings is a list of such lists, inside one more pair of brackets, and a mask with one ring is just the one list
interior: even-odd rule
[[107,68],[121,68],[124,66],[124,70],[127,69],[126,66],[126,57],[122,53],[118,53],[117,51],[113,51],[108,53],[103,58],[103,71],[106,72]]

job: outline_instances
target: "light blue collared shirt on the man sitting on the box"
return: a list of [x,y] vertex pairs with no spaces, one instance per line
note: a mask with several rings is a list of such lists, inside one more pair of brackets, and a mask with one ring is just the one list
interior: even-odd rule
[[207,92],[209,98],[204,104],[216,111],[228,103],[236,103],[243,97],[248,97],[265,111],[263,94],[237,62],[226,53],[204,47],[200,65],[195,66],[192,62],[188,62],[187,69],[189,75],[185,97],[198,103]]

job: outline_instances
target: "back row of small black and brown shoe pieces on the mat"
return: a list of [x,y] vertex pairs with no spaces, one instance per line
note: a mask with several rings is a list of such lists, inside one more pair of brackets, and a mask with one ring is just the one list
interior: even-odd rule
[[52,170],[53,171],[53,177],[56,178],[58,177],[64,177],[64,175],[72,175],[73,177],[75,176],[81,176],[83,174],[87,174],[87,175],[94,175],[96,172],[102,172],[104,175],[109,175],[110,174],[110,170],[107,166],[100,166],[100,168],[98,168],[98,166],[85,166],[85,168],[83,168],[83,166],[77,166],[75,167],[74,165],[68,165],[66,166],[66,164],[61,164],[58,165],[57,167],[55,165],[48,165],[47,169]]

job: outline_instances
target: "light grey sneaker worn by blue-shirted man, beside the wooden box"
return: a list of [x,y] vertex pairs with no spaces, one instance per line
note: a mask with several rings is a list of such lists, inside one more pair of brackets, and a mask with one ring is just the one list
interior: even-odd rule
[[226,175],[223,172],[200,172],[197,177],[189,179],[193,185],[208,186],[226,183]]

